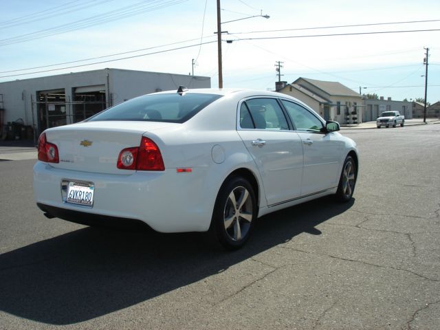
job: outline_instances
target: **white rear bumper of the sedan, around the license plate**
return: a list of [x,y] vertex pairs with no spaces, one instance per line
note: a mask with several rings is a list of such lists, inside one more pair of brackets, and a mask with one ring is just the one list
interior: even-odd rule
[[[157,232],[208,230],[216,195],[205,187],[206,168],[192,173],[127,171],[114,175],[34,165],[34,198],[54,217],[83,224],[142,221]],[[95,186],[93,207],[63,201],[64,179],[89,181]]]

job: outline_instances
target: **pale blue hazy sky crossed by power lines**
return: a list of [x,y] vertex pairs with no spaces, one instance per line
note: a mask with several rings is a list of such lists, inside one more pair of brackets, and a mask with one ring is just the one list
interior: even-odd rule
[[[105,67],[190,74],[194,59],[194,73],[218,86],[215,0],[0,5],[0,82]],[[302,76],[393,100],[423,98],[429,47],[428,102],[440,100],[438,0],[222,0],[221,21],[233,21],[222,24],[223,87],[274,89],[281,61],[288,83]]]

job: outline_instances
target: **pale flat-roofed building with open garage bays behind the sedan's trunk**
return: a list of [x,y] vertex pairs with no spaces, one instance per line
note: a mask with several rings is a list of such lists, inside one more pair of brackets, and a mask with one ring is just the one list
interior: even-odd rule
[[[0,83],[0,128],[8,122],[32,127],[71,124],[135,96],[178,89],[209,88],[210,77],[101,69]],[[10,129],[10,126],[9,126]]]

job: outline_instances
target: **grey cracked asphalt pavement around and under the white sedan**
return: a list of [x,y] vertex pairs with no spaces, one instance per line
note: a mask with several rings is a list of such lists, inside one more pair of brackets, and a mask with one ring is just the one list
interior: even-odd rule
[[352,201],[268,214],[236,252],[47,219],[35,160],[0,162],[0,329],[440,329],[440,125],[342,133]]

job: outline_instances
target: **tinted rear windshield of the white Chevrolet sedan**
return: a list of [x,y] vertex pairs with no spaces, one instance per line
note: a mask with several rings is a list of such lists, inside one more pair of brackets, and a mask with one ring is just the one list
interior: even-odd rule
[[186,122],[214,100],[214,94],[151,94],[125,101],[104,110],[88,121],[140,120],[146,122]]

